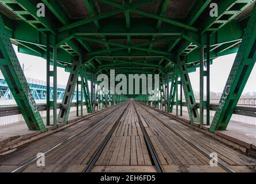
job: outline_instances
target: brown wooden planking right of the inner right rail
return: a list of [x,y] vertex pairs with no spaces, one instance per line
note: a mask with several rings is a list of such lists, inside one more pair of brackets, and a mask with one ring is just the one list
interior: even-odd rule
[[[180,134],[187,137],[187,139],[192,140],[205,151],[209,153],[216,152],[218,159],[228,166],[253,168],[256,164],[256,159],[244,155],[242,152],[236,151],[234,148],[220,143],[220,141],[215,140],[202,132],[197,132],[146,106],[143,106],[143,108],[140,105],[136,106],[140,117],[144,118],[149,127],[146,128],[146,131],[148,132],[153,147],[157,152],[157,156],[159,156],[160,162],[163,165],[209,166],[210,161],[205,155],[177,136],[168,127],[175,129],[175,131],[178,131]],[[146,112],[144,108],[150,113]],[[151,113],[161,121],[165,122],[167,127],[153,117]]]

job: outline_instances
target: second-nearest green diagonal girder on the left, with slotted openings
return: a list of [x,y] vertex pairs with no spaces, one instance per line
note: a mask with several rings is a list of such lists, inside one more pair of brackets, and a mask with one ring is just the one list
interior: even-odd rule
[[81,62],[82,62],[81,56],[74,56],[69,79],[67,81],[65,93],[63,95],[61,108],[59,110],[59,115],[58,115],[59,123],[67,124],[67,119],[69,118],[71,102],[73,99],[74,90],[76,88],[76,82],[77,82],[78,74],[80,71]]

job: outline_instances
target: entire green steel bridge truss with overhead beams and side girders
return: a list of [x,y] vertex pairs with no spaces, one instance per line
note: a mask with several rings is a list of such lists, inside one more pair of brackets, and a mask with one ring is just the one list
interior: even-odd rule
[[[46,16],[37,16],[37,3],[44,3]],[[159,74],[160,99],[155,106],[172,112],[176,96],[176,112],[185,94],[190,122],[206,124],[209,121],[209,72],[216,57],[237,53],[229,74],[210,132],[225,130],[243,88],[255,63],[256,8],[249,0],[217,1],[217,17],[209,16],[209,5],[216,1],[142,0],[110,1],[84,0],[85,12],[75,12],[60,0],[2,0],[0,2],[0,69],[21,109],[28,128],[47,131],[36,108],[28,83],[18,63],[12,44],[18,52],[40,56],[47,60],[47,83],[54,81],[54,99],[47,95],[47,125],[50,109],[54,110],[53,124],[67,123],[74,90],[81,86],[86,109],[94,112],[100,105],[99,94],[94,91],[99,74]],[[81,3],[80,2],[80,3]],[[70,1],[71,3],[71,1]],[[76,5],[74,5],[76,6]],[[190,8],[191,7],[191,8]],[[183,8],[182,16],[172,12]],[[73,8],[72,9],[76,9]],[[175,11],[174,11],[175,12]],[[74,14],[85,14],[74,17]],[[50,70],[50,65],[54,66]],[[206,67],[205,67],[206,66]],[[57,67],[70,72],[61,110],[57,117],[56,86]],[[189,72],[200,70],[200,106],[197,107]],[[206,70],[205,70],[206,68]],[[204,101],[204,76],[206,94]],[[91,97],[88,81],[91,81]],[[171,88],[169,90],[169,82]],[[49,91],[50,85],[47,87]],[[167,90],[168,89],[168,90]],[[148,103],[147,95],[104,94],[103,106],[130,98]],[[78,99],[78,98],[77,98]],[[82,98],[81,98],[82,99]],[[81,106],[82,102],[77,101]],[[78,108],[78,107],[77,107]],[[199,109],[199,113],[198,113]],[[78,115],[78,109],[77,109]]]

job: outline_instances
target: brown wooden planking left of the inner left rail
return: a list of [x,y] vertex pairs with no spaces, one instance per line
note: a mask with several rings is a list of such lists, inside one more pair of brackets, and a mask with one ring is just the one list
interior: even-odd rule
[[[114,122],[118,120],[121,112],[125,109],[126,106],[127,105],[122,105],[106,110],[105,112],[90,117],[71,127],[65,128],[52,135],[23,145],[12,154],[1,156],[0,172],[5,171],[7,166],[20,166],[28,162],[32,158],[35,158],[39,152],[47,151],[49,148],[54,147],[61,141],[65,140],[67,137],[74,135],[74,133],[77,133],[81,129],[88,127],[88,125],[99,121],[91,128],[86,129],[86,131],[74,137],[71,141],[61,145],[59,148],[45,156],[46,167],[52,165],[67,164],[86,166],[92,155],[97,150],[97,147],[99,147],[100,143],[103,141],[104,135],[107,135],[107,132],[109,132],[110,128],[112,128]],[[30,169],[34,168],[35,166],[33,165],[36,164],[32,164],[24,171],[29,171]],[[43,168],[39,168],[39,171],[41,170],[43,170]]]

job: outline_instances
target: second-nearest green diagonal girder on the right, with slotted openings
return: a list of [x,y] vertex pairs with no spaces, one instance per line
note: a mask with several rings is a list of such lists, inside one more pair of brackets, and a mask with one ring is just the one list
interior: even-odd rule
[[189,113],[190,123],[194,124],[194,122],[199,122],[199,115],[193,89],[190,83],[189,74],[187,73],[187,67],[184,56],[178,56],[177,66],[177,71],[182,82],[184,95],[187,102],[187,111]]

